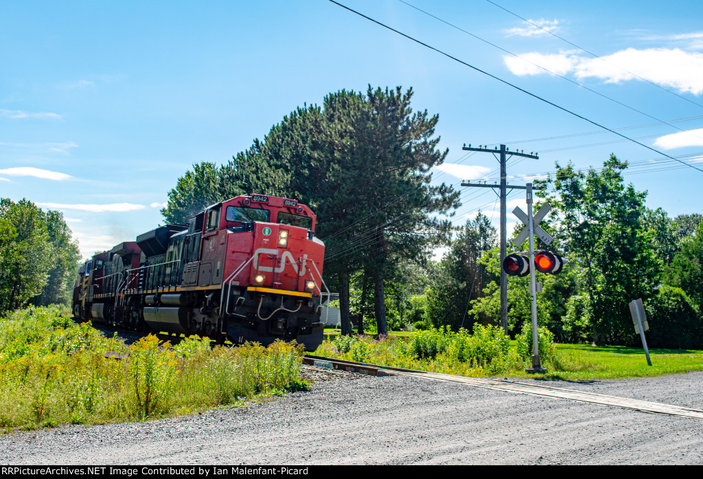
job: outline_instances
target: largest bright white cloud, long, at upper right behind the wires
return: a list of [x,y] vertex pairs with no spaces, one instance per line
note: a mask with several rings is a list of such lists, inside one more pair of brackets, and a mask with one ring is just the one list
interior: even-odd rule
[[[558,54],[525,53],[525,60],[541,65],[557,74],[572,73],[578,79],[595,77],[606,83],[642,77],[653,83],[674,88],[681,93],[703,93],[703,53],[685,52],[679,48],[627,48],[612,55],[586,58],[572,52]],[[510,72],[518,76],[545,73],[520,58],[504,56]]]

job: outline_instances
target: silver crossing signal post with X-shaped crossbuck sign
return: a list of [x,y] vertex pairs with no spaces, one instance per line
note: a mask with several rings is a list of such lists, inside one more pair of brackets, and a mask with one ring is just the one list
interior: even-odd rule
[[532,216],[532,183],[527,183],[527,215],[524,214],[522,209],[515,207],[512,210],[512,214],[515,214],[522,223],[525,224],[525,228],[522,229],[519,235],[512,240],[512,243],[516,247],[519,247],[525,240],[525,236],[529,239],[529,294],[531,297],[532,306],[532,367],[526,369],[527,372],[536,373],[546,373],[547,368],[542,367],[539,362],[539,341],[537,336],[537,287],[535,284],[534,277],[534,235],[536,234],[540,240],[545,244],[550,244],[553,241],[553,237],[548,235],[548,233],[536,225],[542,221],[542,219],[548,214],[551,206],[545,204],[542,206],[537,214]]

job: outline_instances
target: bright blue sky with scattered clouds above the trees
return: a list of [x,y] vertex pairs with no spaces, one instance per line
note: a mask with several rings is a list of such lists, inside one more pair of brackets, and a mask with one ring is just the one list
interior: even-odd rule
[[[605,61],[486,0],[340,3],[703,169],[701,2],[496,0]],[[368,84],[412,86],[415,110],[439,114],[449,156],[437,181],[497,179],[496,159],[464,143],[539,152],[508,164],[520,184],[612,152],[632,163],[626,181],[648,191],[647,206],[701,212],[701,171],[326,0],[0,6],[0,197],[63,211],[86,256],[160,223],[193,163],[226,162],[298,105]],[[456,223],[480,208],[497,224],[493,192],[464,189],[463,200]]]

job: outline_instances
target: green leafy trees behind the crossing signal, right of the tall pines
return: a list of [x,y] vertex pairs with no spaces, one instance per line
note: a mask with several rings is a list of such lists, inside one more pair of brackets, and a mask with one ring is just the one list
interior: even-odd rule
[[[650,346],[703,348],[703,216],[670,218],[661,208],[647,208],[647,193],[625,184],[626,168],[614,155],[599,170],[557,163],[553,176],[536,183],[541,197],[536,209],[544,202],[552,206],[541,225],[555,237],[548,248],[538,241],[536,249],[567,258],[559,275],[537,273],[543,283],[538,321],[564,342],[637,344],[628,303],[642,298]],[[463,231],[433,275],[426,317],[453,328],[465,317],[495,324],[498,247],[472,239],[477,225],[467,223]],[[527,249],[527,240],[521,249]],[[468,286],[477,278],[486,281],[480,291]],[[530,319],[529,277],[508,277],[511,333]]]

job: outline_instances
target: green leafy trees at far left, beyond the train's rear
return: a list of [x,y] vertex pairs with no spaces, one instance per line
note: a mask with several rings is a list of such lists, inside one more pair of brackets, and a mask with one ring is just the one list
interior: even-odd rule
[[80,259],[60,211],[0,199],[0,316],[28,304],[67,304]]

